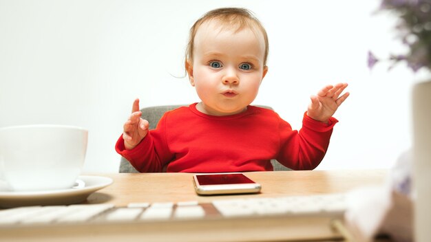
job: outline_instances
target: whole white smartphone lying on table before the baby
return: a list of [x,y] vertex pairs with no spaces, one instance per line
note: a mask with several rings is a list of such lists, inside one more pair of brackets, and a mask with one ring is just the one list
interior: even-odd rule
[[260,184],[243,173],[211,173],[193,175],[198,195],[220,195],[260,192]]

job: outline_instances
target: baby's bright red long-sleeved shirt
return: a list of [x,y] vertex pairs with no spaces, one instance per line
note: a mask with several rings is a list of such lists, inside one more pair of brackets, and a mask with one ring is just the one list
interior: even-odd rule
[[123,137],[116,151],[140,172],[219,173],[273,170],[271,159],[293,170],[312,170],[322,161],[333,126],[304,114],[302,129],[270,109],[249,106],[242,113],[213,116],[196,103],[167,111],[132,150]]

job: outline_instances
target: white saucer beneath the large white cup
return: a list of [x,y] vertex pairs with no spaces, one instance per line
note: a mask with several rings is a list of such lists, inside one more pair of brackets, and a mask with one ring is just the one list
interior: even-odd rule
[[[80,181],[81,180],[81,181]],[[85,201],[87,197],[105,186],[112,184],[109,177],[81,175],[77,180],[80,186],[62,190],[41,190],[30,192],[15,192],[0,186],[0,207],[34,205],[68,205]]]

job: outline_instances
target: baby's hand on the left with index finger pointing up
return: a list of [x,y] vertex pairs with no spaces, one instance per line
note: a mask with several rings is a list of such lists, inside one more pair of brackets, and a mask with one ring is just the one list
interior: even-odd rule
[[132,114],[123,126],[123,140],[127,150],[135,148],[148,133],[149,123],[140,118],[140,115],[142,112],[139,111],[139,99],[136,98],[133,102]]

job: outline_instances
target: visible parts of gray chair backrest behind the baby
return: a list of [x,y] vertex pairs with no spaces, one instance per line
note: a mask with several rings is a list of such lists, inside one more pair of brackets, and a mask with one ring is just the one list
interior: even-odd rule
[[[142,111],[141,118],[147,120],[149,122],[149,129],[155,129],[158,123],[158,120],[162,118],[162,115],[169,110],[176,109],[178,107],[182,107],[185,105],[167,105],[167,106],[156,106],[156,107],[146,107],[140,109]],[[260,106],[266,109],[271,109],[271,107]],[[272,110],[272,109],[271,109]],[[272,159],[271,163],[273,164],[274,170],[291,170],[286,166],[283,166],[277,160]],[[120,161],[120,173],[139,173],[130,163],[125,159],[125,157],[121,157]]]

